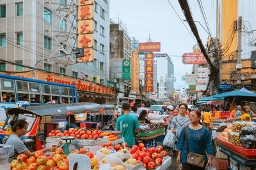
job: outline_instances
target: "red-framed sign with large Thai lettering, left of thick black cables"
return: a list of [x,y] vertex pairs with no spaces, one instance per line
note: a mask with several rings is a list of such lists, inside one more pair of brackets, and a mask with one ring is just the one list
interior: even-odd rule
[[182,55],[182,62],[183,64],[205,64],[207,60],[205,60],[204,54],[202,52],[196,52],[184,53]]

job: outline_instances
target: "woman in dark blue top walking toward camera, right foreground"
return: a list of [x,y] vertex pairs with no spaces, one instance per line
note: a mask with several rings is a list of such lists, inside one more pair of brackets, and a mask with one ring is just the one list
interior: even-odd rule
[[[209,131],[199,122],[201,119],[201,112],[199,110],[191,111],[189,115],[189,121],[191,122],[188,125],[188,132],[187,132],[187,141],[188,141],[188,152],[197,153],[200,155],[205,155],[205,163],[207,162],[207,166],[212,166],[212,155],[214,155],[214,148],[212,146],[211,135]],[[180,138],[176,149],[179,150],[177,156],[177,163],[182,163],[182,168],[189,170],[189,169],[205,169],[204,167],[196,167],[192,166],[191,164],[187,163],[187,148],[186,148],[186,139],[185,139],[185,128],[184,127],[180,133]],[[205,151],[208,154],[208,157],[205,154]],[[209,159],[208,159],[209,158]]]

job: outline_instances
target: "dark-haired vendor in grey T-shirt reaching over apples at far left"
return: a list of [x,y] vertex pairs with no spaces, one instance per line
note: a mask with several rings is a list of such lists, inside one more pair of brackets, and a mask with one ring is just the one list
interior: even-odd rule
[[[28,129],[28,122],[25,120],[19,119],[15,121],[11,121],[10,125],[12,126],[13,134],[10,135],[10,137],[6,141],[6,145],[12,145],[14,146],[14,154],[19,155],[20,153],[23,153],[25,155],[34,155],[35,152],[30,152],[26,145],[23,143],[23,141],[20,139],[20,136],[24,136],[27,133]],[[42,152],[54,152],[56,148],[44,148],[41,151]]]

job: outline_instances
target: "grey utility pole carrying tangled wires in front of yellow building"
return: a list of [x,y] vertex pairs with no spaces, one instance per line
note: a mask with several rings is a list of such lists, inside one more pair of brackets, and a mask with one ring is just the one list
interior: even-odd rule
[[237,42],[236,72],[237,72],[237,84],[241,85],[241,69],[242,69],[242,63],[241,63],[241,52],[242,52],[242,17],[238,17],[237,36],[238,36],[238,42]]

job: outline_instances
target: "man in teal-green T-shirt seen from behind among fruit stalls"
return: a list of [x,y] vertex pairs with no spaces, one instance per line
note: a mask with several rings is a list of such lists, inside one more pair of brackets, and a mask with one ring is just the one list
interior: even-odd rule
[[124,103],[122,106],[124,115],[120,116],[116,120],[116,129],[121,132],[121,137],[124,137],[124,141],[128,146],[135,145],[135,134],[139,132],[140,124],[138,119],[130,115],[130,105]]

